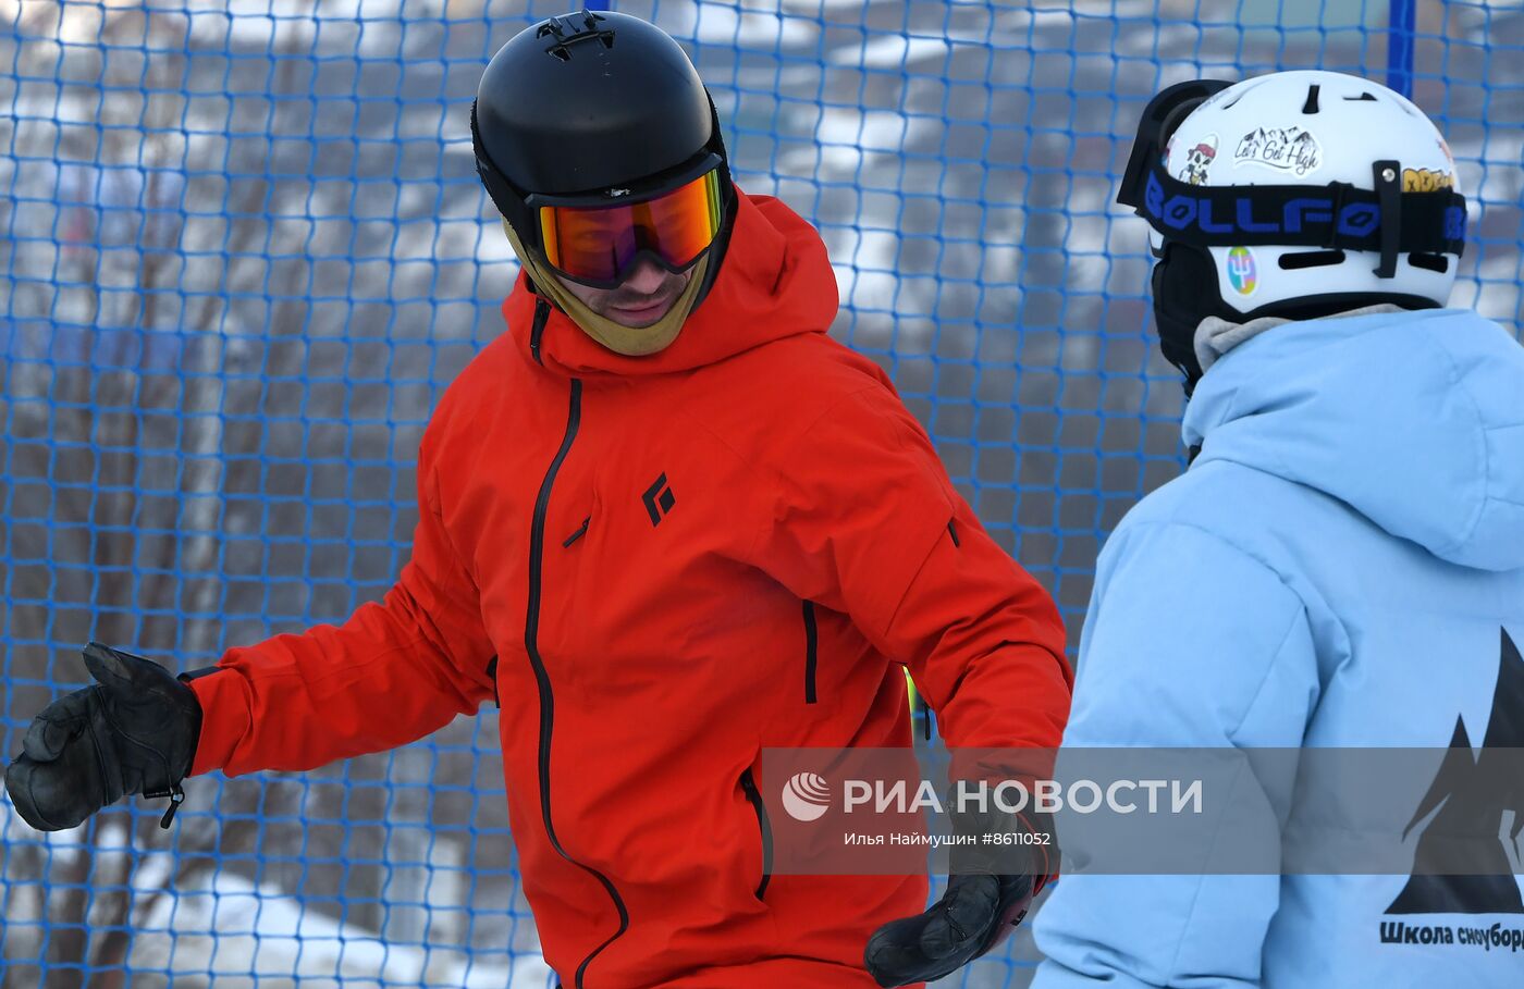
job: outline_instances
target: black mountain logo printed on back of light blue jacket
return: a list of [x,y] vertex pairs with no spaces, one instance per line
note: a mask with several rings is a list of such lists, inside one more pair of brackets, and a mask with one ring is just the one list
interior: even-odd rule
[[[1388,914],[1524,913],[1507,847],[1498,837],[1504,811],[1513,812],[1509,837],[1515,850],[1524,831],[1524,780],[1510,780],[1501,771],[1504,748],[1524,748],[1524,658],[1507,631],[1481,751],[1472,751],[1466,722],[1457,716],[1449,751],[1404,838],[1436,808],[1439,812],[1419,837],[1413,875],[1387,907]],[[1457,873],[1449,875],[1448,869]]]

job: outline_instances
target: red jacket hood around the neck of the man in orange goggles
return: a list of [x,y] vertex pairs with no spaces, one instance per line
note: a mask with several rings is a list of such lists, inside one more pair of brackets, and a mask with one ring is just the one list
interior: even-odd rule
[[[520,273],[503,302],[507,329],[529,361],[535,361],[530,337],[538,299]],[[578,378],[692,370],[783,337],[826,332],[838,302],[820,233],[782,201],[741,194],[719,274],[668,347],[625,357],[594,341],[561,309],[552,309],[539,337],[539,364]]]

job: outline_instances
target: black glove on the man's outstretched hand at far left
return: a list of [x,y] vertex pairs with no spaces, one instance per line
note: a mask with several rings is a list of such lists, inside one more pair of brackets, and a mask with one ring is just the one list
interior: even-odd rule
[[122,797],[169,797],[160,827],[184,800],[201,738],[201,704],[158,663],[90,643],[96,684],[75,690],[32,719],[5,788],[38,831],[78,827]]

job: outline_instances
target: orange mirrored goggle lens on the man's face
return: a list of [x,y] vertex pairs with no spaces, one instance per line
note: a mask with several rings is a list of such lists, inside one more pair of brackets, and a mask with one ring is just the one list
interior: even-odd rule
[[640,251],[683,270],[719,233],[719,171],[629,206],[541,206],[546,261],[579,282],[617,282]]

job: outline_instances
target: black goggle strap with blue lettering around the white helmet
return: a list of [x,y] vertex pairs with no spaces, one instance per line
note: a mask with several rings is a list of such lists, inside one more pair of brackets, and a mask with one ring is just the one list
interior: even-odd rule
[[1376,162],[1376,190],[1327,186],[1192,186],[1160,162],[1117,201],[1170,241],[1195,247],[1321,247],[1381,254],[1381,277],[1398,254],[1463,254],[1466,197],[1452,189],[1402,192],[1402,166]]

